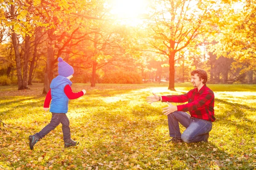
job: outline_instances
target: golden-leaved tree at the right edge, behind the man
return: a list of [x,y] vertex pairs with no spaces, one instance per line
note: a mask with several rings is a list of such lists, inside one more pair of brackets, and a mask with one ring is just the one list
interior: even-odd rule
[[[225,1],[222,3],[222,8],[218,8],[216,12],[223,17],[215,22],[218,24],[218,34],[208,37],[208,41],[214,40],[217,42],[213,43],[210,48],[210,52],[217,56],[217,60],[224,61],[224,58],[221,57],[225,57],[233,62],[229,79],[227,73],[222,72],[224,82],[239,80],[245,82],[242,79],[249,73],[251,82],[253,79],[251,71],[255,71],[256,66],[255,0]],[[221,62],[221,64],[223,63]]]

